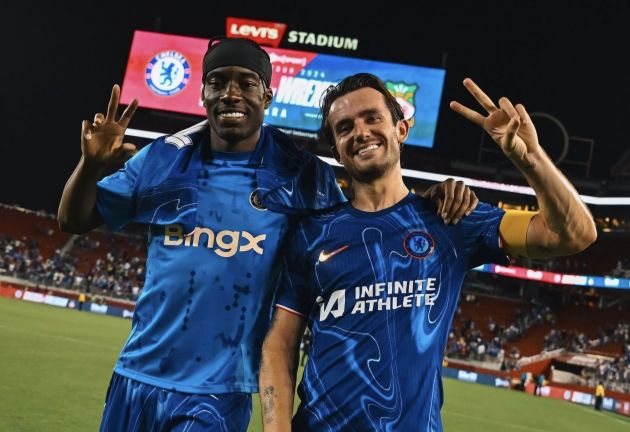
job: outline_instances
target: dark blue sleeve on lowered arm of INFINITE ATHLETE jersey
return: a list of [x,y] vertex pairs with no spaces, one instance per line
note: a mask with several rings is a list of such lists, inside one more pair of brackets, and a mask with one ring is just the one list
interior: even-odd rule
[[315,297],[303,256],[306,245],[301,244],[303,242],[300,242],[300,238],[301,232],[298,228],[282,258],[280,286],[275,306],[306,318]]

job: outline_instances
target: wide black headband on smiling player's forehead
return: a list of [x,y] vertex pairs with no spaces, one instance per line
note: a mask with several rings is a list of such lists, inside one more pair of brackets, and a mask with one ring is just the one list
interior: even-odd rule
[[271,60],[269,54],[256,42],[240,38],[213,38],[203,56],[203,77],[222,66],[241,66],[258,74],[269,88],[271,85]]

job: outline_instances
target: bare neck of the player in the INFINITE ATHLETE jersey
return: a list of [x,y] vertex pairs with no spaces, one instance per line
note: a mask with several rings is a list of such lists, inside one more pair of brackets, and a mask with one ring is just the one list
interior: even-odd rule
[[409,189],[403,182],[400,167],[392,169],[383,177],[369,183],[353,181],[352,188],[354,208],[362,211],[375,212],[389,208],[402,201]]

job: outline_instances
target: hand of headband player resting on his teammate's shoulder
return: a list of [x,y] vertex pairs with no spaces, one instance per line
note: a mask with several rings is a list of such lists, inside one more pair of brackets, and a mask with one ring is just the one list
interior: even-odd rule
[[463,181],[452,178],[432,185],[422,197],[433,201],[445,224],[452,222],[453,225],[472,213],[479,204],[475,193]]

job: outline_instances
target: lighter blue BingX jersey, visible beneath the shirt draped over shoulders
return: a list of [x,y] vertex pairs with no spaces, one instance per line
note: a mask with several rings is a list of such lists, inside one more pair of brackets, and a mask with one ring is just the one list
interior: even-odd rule
[[[99,182],[99,212],[125,222],[146,148]],[[150,227],[146,280],[115,372],[185,393],[258,391],[262,340],[289,217],[259,205],[249,153],[213,152],[197,227]],[[129,216],[127,216],[129,218]],[[122,220],[121,220],[122,219]]]

